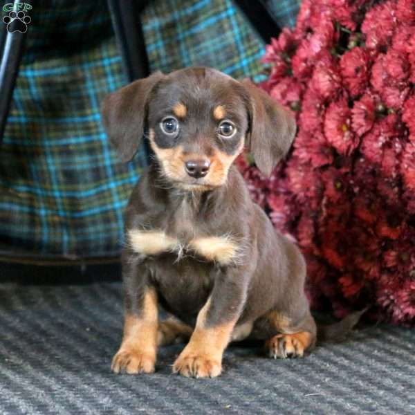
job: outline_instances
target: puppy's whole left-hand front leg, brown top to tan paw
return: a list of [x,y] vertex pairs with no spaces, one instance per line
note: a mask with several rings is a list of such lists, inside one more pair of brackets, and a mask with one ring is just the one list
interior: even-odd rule
[[[125,263],[124,263],[125,264]],[[157,294],[142,266],[128,264],[124,277],[124,334],[111,369],[116,374],[152,373],[156,364]]]

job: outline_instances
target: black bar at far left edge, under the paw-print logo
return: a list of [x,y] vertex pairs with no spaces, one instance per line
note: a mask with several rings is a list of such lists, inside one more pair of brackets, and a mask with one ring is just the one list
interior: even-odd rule
[[[14,4],[17,3],[21,4],[19,1],[14,2]],[[30,4],[32,1],[27,0],[25,3]],[[3,133],[6,127],[10,103],[12,102],[17,73],[19,73],[19,65],[27,33],[27,31],[21,33],[19,30],[9,33],[9,27],[3,21],[0,21],[0,144],[3,140]]]

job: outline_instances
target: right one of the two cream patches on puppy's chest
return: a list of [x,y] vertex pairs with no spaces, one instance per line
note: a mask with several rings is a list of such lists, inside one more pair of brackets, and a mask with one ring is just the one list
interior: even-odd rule
[[227,265],[237,260],[239,247],[228,237],[201,237],[192,239],[189,245],[208,261]]

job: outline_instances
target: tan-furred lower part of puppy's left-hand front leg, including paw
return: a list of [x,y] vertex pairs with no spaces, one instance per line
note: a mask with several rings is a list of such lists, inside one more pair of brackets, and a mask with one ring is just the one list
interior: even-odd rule
[[116,374],[154,372],[157,352],[157,295],[149,288],[143,299],[140,316],[126,315],[120,350],[114,356],[111,370]]

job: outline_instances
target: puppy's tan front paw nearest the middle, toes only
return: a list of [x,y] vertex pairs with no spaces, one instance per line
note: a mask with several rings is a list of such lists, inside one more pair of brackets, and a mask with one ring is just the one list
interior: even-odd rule
[[187,378],[216,378],[222,371],[221,362],[211,356],[181,353],[173,365],[173,373]]

